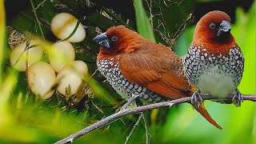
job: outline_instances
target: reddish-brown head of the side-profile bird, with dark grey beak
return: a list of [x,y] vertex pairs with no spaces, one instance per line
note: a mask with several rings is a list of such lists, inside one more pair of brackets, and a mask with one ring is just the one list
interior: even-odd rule
[[114,26],[94,38],[100,47],[98,57],[111,57],[124,54],[140,47],[142,37],[125,26]]

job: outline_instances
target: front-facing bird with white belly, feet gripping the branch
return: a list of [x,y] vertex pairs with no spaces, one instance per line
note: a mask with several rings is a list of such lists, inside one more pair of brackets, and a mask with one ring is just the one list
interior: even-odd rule
[[214,10],[205,14],[195,26],[193,41],[183,61],[186,77],[198,88],[193,94],[194,102],[198,97],[202,100],[204,94],[218,99],[234,95],[231,102],[241,106],[243,97],[238,85],[245,58],[230,33],[230,22],[228,14]]

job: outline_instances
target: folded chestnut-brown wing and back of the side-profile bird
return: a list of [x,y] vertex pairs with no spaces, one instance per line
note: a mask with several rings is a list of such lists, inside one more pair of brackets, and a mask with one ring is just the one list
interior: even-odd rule
[[161,44],[142,45],[123,54],[118,62],[127,80],[168,98],[183,98],[191,89],[183,75],[182,59]]

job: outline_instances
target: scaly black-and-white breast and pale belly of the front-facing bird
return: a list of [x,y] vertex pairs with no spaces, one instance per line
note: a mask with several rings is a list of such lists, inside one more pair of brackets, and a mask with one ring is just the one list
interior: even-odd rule
[[231,48],[229,54],[212,54],[202,46],[191,45],[184,59],[185,73],[189,81],[202,94],[225,98],[233,94],[242,79],[244,58],[239,48]]

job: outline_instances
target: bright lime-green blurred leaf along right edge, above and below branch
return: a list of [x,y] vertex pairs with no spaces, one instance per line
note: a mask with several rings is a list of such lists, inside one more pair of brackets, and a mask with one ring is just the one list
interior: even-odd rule
[[[256,2],[254,2],[247,14],[241,8],[236,10],[237,22],[232,26],[231,30],[245,58],[242,81],[238,86],[238,90],[240,90],[242,94],[256,94],[255,6]],[[254,102],[244,102],[239,110],[232,110],[233,114],[241,115],[241,118],[232,121],[234,129],[231,134],[233,137],[230,138],[231,143],[255,143],[255,107]],[[243,130],[241,130],[241,127]],[[235,136],[238,134],[243,134],[242,138]],[[231,139],[233,141],[231,141]]]

